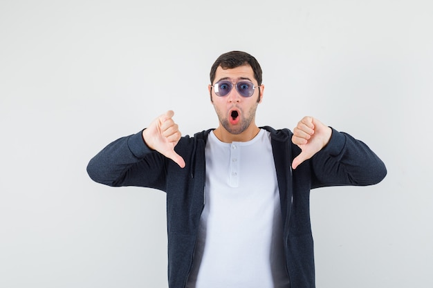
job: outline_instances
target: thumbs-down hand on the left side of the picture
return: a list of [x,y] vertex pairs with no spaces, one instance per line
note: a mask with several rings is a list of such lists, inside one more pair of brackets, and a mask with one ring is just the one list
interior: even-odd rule
[[142,131],[142,138],[149,148],[158,151],[184,168],[185,160],[174,151],[174,146],[179,142],[182,134],[172,119],[173,115],[173,111],[167,111],[154,119],[149,127]]

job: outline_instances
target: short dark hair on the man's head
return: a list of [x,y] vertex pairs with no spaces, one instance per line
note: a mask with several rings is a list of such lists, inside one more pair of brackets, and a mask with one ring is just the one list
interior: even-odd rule
[[261,67],[259,62],[252,55],[242,51],[227,52],[216,59],[212,68],[210,68],[210,84],[214,83],[216,68],[219,66],[223,69],[232,69],[246,64],[251,66],[257,84],[261,85]]

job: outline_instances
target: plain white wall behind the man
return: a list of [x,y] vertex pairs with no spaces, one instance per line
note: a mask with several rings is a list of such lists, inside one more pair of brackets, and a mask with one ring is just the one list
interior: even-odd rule
[[264,69],[257,124],[363,140],[383,182],[313,191],[317,287],[433,287],[433,4],[0,1],[0,287],[167,287],[165,195],[86,164],[167,109],[215,127],[208,73]]

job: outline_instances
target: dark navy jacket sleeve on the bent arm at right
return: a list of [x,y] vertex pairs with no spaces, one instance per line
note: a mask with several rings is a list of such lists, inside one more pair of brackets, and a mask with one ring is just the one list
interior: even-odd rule
[[329,143],[311,158],[312,188],[377,184],[387,175],[382,160],[360,140],[332,129]]

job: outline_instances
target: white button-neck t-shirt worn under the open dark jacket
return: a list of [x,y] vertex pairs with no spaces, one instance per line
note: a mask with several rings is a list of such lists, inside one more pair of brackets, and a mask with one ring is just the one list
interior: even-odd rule
[[187,288],[289,287],[270,133],[205,147],[205,207]]

